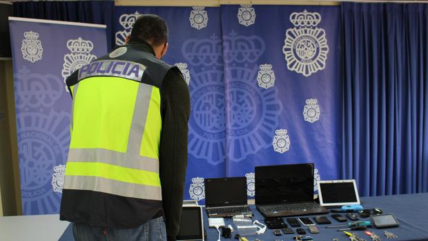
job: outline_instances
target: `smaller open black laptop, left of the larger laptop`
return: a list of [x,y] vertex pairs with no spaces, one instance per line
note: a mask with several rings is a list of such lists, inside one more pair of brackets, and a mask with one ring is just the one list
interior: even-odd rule
[[205,206],[208,218],[253,215],[246,202],[246,178],[206,179]]

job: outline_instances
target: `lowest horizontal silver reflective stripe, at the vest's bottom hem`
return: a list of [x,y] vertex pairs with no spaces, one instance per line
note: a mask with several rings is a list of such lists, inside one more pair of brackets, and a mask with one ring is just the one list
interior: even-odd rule
[[162,200],[162,189],[160,186],[144,186],[109,180],[103,177],[88,176],[66,176],[64,189],[99,191],[123,197],[135,197],[148,200]]

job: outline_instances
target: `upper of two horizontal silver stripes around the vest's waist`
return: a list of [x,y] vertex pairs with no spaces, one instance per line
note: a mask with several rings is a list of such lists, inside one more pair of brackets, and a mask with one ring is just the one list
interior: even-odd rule
[[67,162],[104,162],[115,166],[159,173],[159,161],[156,159],[102,148],[70,148]]

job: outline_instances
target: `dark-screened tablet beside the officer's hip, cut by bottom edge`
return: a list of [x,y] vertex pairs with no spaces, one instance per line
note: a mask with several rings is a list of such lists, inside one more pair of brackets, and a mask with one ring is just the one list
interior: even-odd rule
[[201,206],[183,206],[177,241],[204,240],[203,222]]

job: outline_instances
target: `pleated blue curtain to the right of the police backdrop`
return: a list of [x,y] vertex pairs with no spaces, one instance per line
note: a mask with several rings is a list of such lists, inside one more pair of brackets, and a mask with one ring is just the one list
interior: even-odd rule
[[360,195],[428,191],[428,5],[342,3],[342,175]]

